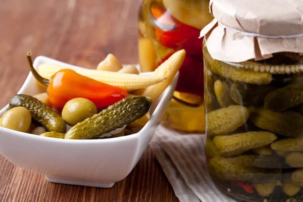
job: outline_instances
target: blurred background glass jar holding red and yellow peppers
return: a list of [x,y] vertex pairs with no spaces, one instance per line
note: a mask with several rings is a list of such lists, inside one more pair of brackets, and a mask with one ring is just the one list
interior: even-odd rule
[[203,40],[200,30],[213,17],[209,0],[144,0],[139,11],[139,63],[154,71],[173,53],[185,49],[186,58],[163,124],[171,128],[205,131]]

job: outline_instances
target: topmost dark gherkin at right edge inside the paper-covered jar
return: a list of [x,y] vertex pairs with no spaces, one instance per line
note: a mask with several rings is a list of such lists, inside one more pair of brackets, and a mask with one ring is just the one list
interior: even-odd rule
[[281,112],[301,103],[303,103],[303,83],[298,83],[271,91],[265,97],[264,107]]

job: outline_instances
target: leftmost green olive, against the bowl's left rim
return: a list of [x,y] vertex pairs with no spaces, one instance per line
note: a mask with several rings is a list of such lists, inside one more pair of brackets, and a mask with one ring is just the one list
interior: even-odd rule
[[31,115],[24,107],[16,107],[7,111],[0,119],[0,126],[12,130],[26,132],[31,124]]

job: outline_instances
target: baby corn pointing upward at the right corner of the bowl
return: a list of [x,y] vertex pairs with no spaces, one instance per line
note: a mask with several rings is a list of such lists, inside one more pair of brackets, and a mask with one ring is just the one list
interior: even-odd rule
[[153,100],[157,99],[161,93],[169,86],[174,76],[179,71],[186,52],[184,49],[174,53],[169,59],[162,63],[154,72],[154,76],[166,77],[165,81],[153,86],[148,86],[141,95],[151,97]]

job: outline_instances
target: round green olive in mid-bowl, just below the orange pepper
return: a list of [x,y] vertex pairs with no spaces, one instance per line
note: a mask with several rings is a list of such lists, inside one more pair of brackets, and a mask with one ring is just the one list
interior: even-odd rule
[[85,98],[74,98],[67,102],[62,110],[62,118],[65,122],[74,126],[97,113],[97,107],[93,102]]

